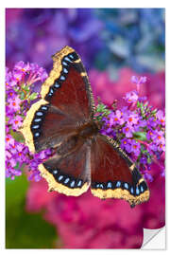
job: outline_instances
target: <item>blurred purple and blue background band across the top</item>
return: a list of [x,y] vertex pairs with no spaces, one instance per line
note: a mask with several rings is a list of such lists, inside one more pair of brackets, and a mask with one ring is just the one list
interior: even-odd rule
[[87,69],[163,69],[164,9],[7,9],[6,19],[8,66],[49,69],[50,56],[68,45]]

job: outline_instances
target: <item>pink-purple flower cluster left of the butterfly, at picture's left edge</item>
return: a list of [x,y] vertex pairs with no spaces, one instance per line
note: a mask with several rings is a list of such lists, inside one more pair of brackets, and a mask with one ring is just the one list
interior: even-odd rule
[[24,143],[19,129],[32,101],[39,97],[33,90],[37,82],[43,82],[47,73],[37,64],[15,64],[12,71],[6,70],[6,175],[11,179],[21,175],[24,166],[33,171],[29,178],[40,179],[38,165],[51,154],[50,150],[33,155]]

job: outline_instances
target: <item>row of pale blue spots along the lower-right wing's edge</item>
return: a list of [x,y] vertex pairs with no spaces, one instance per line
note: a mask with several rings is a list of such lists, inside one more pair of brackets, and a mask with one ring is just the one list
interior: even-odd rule
[[140,184],[139,186],[133,187],[129,185],[127,182],[121,182],[121,181],[116,181],[116,182],[108,182],[107,185],[104,183],[97,183],[95,185],[96,189],[102,189],[102,190],[108,190],[108,189],[116,189],[116,188],[121,188],[122,190],[127,190],[131,194],[136,194],[139,195],[140,193],[144,192],[144,186]]

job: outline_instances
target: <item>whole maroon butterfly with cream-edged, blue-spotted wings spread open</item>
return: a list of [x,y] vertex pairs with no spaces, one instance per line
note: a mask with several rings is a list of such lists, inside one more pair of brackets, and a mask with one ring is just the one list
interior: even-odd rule
[[99,133],[93,93],[76,51],[63,47],[42,84],[40,101],[26,114],[22,133],[33,153],[55,149],[39,165],[49,190],[78,196],[91,187],[101,199],[125,199],[131,207],[149,199],[144,177],[119,144]]

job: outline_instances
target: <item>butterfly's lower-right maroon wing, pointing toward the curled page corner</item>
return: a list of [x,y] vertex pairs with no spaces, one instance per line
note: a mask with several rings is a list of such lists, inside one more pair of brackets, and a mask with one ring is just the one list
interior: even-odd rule
[[91,151],[92,192],[100,198],[125,199],[131,206],[147,201],[149,191],[134,163],[118,144],[102,135]]

